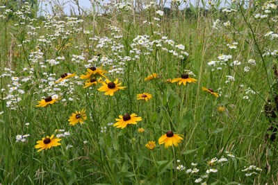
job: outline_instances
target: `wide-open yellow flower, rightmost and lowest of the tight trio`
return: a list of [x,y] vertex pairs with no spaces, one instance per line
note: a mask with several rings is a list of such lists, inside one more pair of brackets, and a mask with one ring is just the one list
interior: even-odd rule
[[118,81],[119,80],[116,79],[114,82],[111,82],[106,78],[105,82],[102,82],[102,87],[100,87],[97,90],[105,92],[105,95],[113,96],[115,91],[126,88],[126,87],[120,87],[122,82],[118,83]]

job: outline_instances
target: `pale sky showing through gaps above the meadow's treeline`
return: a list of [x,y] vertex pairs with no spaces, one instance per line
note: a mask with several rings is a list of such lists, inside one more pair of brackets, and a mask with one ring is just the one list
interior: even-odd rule
[[[40,0],[40,7],[42,8],[42,15],[45,14],[45,12],[51,12],[51,8],[49,5],[49,1],[54,1],[54,0]],[[60,3],[60,5],[62,5],[63,3],[65,4],[65,13],[67,15],[70,15],[70,8],[74,8],[74,10],[77,13],[77,6],[70,0],[55,0],[56,2]],[[170,8],[170,1],[171,0],[167,0],[165,3],[165,7]],[[201,1],[201,0],[189,0],[190,3],[192,3],[194,6],[197,4],[197,1]],[[208,1],[208,0],[204,0],[204,1]],[[214,0],[217,1],[217,0]],[[218,0],[220,1],[220,0]],[[222,2],[220,3],[220,7],[225,7],[228,6],[229,3],[231,2],[231,0],[221,0]],[[104,2],[108,2],[108,0],[104,0]],[[189,2],[188,2],[189,3]],[[188,5],[188,3],[186,3]],[[92,8],[92,5],[90,3],[90,0],[79,0],[79,6],[81,8],[83,8],[84,10],[88,10],[90,8]],[[181,9],[184,8],[184,6],[180,7]]]

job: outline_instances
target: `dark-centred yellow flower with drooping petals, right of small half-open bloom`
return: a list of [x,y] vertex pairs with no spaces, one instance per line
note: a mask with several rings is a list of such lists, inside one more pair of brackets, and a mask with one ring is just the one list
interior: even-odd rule
[[158,143],[160,145],[165,143],[165,148],[168,148],[169,146],[172,146],[172,145],[178,146],[178,143],[181,143],[181,140],[183,140],[183,138],[181,136],[182,135],[180,135],[180,134],[174,134],[174,132],[168,131],[168,132],[166,132],[166,134],[164,134],[163,136],[161,136],[158,139]]

